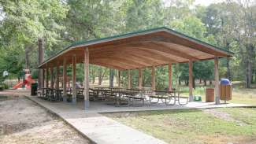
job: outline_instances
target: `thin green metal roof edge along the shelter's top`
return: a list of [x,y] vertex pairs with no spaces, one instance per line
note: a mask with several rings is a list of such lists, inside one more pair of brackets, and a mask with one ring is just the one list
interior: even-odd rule
[[176,34],[176,35],[179,35],[179,36],[182,36],[184,38],[187,38],[187,39],[190,39],[192,41],[195,41],[195,42],[198,42],[198,43],[201,43],[202,45],[206,45],[206,46],[210,46],[216,50],[221,50],[222,52],[226,53],[226,54],[229,54],[229,55],[233,55],[234,53],[232,53],[231,51],[229,50],[225,50],[224,48],[221,48],[221,47],[218,47],[218,46],[213,46],[212,44],[210,43],[207,43],[207,42],[203,42],[202,40],[200,39],[195,39],[191,36],[188,36],[188,35],[184,35],[183,33],[180,33],[179,31],[174,31],[173,29],[171,28],[166,28],[166,27],[159,27],[159,28],[151,28],[151,29],[147,29],[147,30],[143,30],[143,31],[133,31],[133,32],[128,32],[126,34],[121,34],[121,35],[113,35],[113,36],[109,36],[109,37],[105,37],[105,38],[101,38],[101,39],[91,39],[91,40],[80,40],[80,41],[76,41],[76,42],[73,42],[71,45],[65,47],[63,50],[59,51],[57,54],[54,54],[54,56],[52,57],[49,57],[48,59],[46,59],[46,61],[43,61],[43,63],[40,66],[44,65],[46,62],[50,61],[51,59],[53,59],[54,57],[58,56],[59,54],[61,54],[63,51],[65,50],[69,50],[71,48],[74,48],[76,46],[83,46],[83,45],[90,45],[92,43],[95,43],[95,42],[101,42],[101,41],[106,41],[106,40],[113,40],[113,39],[118,39],[118,38],[123,38],[123,37],[127,37],[127,36],[133,36],[133,35],[139,35],[139,34],[143,34],[143,33],[147,33],[147,32],[154,32],[154,31],[169,31],[170,33],[173,33],[173,34]]

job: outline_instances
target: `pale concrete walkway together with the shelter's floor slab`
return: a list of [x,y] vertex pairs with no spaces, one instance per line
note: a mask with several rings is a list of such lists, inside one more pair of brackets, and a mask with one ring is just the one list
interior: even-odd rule
[[125,126],[124,124],[120,124],[106,116],[102,116],[100,113],[250,106],[243,104],[214,105],[214,103],[206,102],[189,102],[187,105],[173,106],[145,105],[143,107],[115,107],[113,105],[106,105],[104,102],[91,102],[90,109],[85,111],[83,110],[83,102],[77,102],[76,105],[73,105],[72,103],[67,102],[48,102],[32,96],[27,96],[27,98],[30,98],[32,101],[48,109],[50,112],[56,113],[77,131],[80,131],[81,134],[98,144],[165,143],[158,138],[146,135],[132,127]]

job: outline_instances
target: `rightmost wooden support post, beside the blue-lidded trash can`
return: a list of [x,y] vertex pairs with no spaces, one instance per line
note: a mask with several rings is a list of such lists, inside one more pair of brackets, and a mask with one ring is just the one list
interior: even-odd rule
[[214,57],[214,75],[215,75],[215,104],[220,104],[220,86],[219,86],[219,57]]

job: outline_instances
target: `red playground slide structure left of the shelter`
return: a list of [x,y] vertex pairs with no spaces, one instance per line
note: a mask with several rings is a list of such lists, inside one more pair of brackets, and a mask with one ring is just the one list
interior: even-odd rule
[[13,89],[17,89],[20,87],[26,87],[27,89],[30,89],[32,83],[35,83],[35,80],[32,79],[29,69],[24,69],[23,73],[23,81],[14,85]]

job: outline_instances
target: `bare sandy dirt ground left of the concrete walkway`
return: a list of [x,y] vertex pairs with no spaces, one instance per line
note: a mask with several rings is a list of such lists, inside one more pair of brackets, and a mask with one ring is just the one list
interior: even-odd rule
[[19,97],[0,101],[0,143],[90,143],[57,116]]

